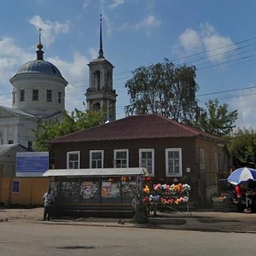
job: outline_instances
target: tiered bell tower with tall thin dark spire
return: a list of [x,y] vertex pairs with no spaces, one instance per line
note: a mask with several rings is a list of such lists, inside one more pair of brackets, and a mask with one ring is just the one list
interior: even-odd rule
[[90,87],[86,90],[88,110],[102,110],[106,121],[116,119],[116,97],[113,90],[113,65],[107,61],[102,49],[102,15],[100,19],[100,49],[96,60],[90,61]]

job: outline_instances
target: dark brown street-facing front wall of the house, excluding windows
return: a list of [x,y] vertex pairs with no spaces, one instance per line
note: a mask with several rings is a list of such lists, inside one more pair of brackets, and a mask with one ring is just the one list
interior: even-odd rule
[[139,148],[154,148],[154,174],[166,177],[166,148],[182,148],[183,174],[195,170],[194,139],[148,139],[92,143],[60,143],[55,145],[55,169],[67,168],[67,152],[80,151],[80,168],[90,168],[90,150],[104,150],[105,168],[113,167],[113,150],[129,149],[129,167],[139,166]]

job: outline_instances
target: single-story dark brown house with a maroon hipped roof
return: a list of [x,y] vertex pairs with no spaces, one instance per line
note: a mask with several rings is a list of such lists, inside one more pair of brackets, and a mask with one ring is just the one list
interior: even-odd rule
[[[49,142],[55,169],[146,167],[149,183],[189,183],[205,206],[228,170],[227,142],[160,114],[137,115]],[[81,184],[80,184],[81,185]]]

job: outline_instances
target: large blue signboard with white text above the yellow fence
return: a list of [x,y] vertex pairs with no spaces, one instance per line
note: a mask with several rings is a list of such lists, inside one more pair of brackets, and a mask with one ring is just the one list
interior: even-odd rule
[[16,177],[41,177],[49,169],[49,152],[18,152]]

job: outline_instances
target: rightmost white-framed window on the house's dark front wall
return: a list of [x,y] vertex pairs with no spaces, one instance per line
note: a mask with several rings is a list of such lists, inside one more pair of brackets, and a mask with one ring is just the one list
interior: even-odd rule
[[182,176],[182,149],[166,148],[166,177]]

